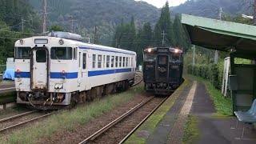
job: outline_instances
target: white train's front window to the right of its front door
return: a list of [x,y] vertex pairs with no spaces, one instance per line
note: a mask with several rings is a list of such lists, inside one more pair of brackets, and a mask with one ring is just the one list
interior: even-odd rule
[[50,49],[51,59],[62,59],[70,60],[72,59],[72,48],[71,47],[52,47]]

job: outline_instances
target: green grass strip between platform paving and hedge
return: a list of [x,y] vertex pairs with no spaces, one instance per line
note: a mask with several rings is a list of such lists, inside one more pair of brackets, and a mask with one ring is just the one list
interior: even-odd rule
[[206,84],[206,90],[210,94],[210,98],[214,101],[215,109],[218,115],[230,116],[232,115],[232,100],[231,98],[224,97],[220,90],[216,90],[214,86],[204,78],[189,75],[191,78],[204,82]]

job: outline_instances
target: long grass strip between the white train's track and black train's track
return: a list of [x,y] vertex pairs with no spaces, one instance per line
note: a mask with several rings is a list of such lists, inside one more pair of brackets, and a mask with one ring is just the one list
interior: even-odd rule
[[51,115],[45,121],[16,130],[12,134],[0,136],[0,143],[37,143],[44,138],[50,138],[55,133],[75,130],[79,126],[93,121],[94,118],[113,110],[114,107],[129,102],[136,94],[143,92],[143,85],[140,84],[124,93],[95,100],[86,106],[78,106],[74,110],[62,110]]

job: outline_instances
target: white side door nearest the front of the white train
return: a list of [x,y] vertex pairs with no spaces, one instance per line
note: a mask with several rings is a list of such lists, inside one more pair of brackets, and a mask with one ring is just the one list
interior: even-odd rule
[[79,52],[79,72],[78,72],[78,85],[82,86],[80,89],[85,90],[86,81],[88,77],[88,66],[87,66],[87,51]]

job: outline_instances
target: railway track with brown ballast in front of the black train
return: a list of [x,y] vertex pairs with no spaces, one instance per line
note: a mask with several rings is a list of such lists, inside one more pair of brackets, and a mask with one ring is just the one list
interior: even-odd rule
[[141,126],[159,106],[162,105],[162,102],[165,101],[166,98],[155,98],[153,96],[147,98],[145,101],[134,106],[134,108],[130,109],[125,114],[122,114],[122,116],[115,119],[113,122],[110,122],[108,125],[102,127],[102,129],[90,135],[79,144],[102,142],[117,143],[117,141],[122,143],[126,138],[129,138],[134,130]]

